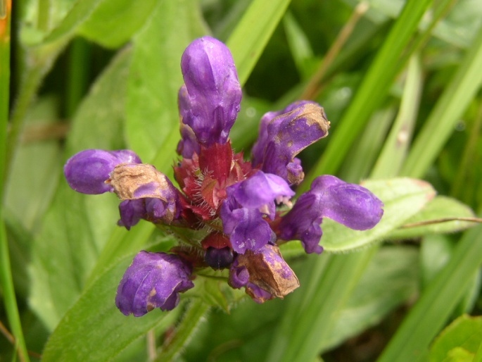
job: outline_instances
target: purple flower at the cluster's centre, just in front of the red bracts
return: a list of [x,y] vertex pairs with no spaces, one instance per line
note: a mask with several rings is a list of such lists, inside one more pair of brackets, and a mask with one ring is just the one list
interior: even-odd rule
[[220,216],[224,233],[229,235],[237,253],[257,250],[276,237],[263,216],[273,220],[274,201],[288,203],[294,195],[279,176],[258,171],[251,177],[227,187],[227,199]]

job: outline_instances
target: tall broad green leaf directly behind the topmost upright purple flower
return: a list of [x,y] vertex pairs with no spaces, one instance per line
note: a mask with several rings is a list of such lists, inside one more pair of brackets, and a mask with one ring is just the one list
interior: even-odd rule
[[151,161],[166,142],[171,151],[163,158],[175,157],[179,140],[177,92],[183,84],[181,56],[193,39],[206,32],[197,1],[160,1],[134,38],[125,131],[129,148],[144,161]]

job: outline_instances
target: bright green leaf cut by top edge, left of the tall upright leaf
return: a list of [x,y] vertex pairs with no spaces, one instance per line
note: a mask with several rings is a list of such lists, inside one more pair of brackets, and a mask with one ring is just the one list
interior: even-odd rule
[[155,6],[155,0],[104,0],[78,33],[102,46],[117,48],[144,25]]

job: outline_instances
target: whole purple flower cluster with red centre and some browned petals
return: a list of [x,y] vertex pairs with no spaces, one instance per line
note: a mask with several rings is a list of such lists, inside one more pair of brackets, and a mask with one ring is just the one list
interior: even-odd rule
[[72,189],[118,195],[119,225],[127,230],[141,219],[173,232],[194,230],[189,244],[170,253],[137,254],[115,298],[125,315],[175,308],[179,293],[194,287],[196,272],[207,267],[229,269],[229,285],[244,287],[259,303],[283,298],[299,283],[278,244],[298,239],[307,253],[319,254],[323,218],[367,230],[383,214],[374,194],[330,175],[317,177],[292,204],[291,187],[304,177],[296,156],[328,135],[321,106],[298,101],[266,113],[246,161],[229,140],[241,86],[227,46],[211,37],[196,39],[184,51],[181,68],[181,158],[174,167],[179,189],[129,150],[88,149],[65,164]]

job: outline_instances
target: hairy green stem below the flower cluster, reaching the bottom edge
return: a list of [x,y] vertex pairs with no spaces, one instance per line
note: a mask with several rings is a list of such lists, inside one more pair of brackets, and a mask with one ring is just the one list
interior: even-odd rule
[[187,311],[184,313],[181,323],[177,326],[175,336],[170,340],[154,360],[155,362],[173,361],[179,356],[203,321],[205,313],[209,310],[208,304],[201,299],[192,299]]

